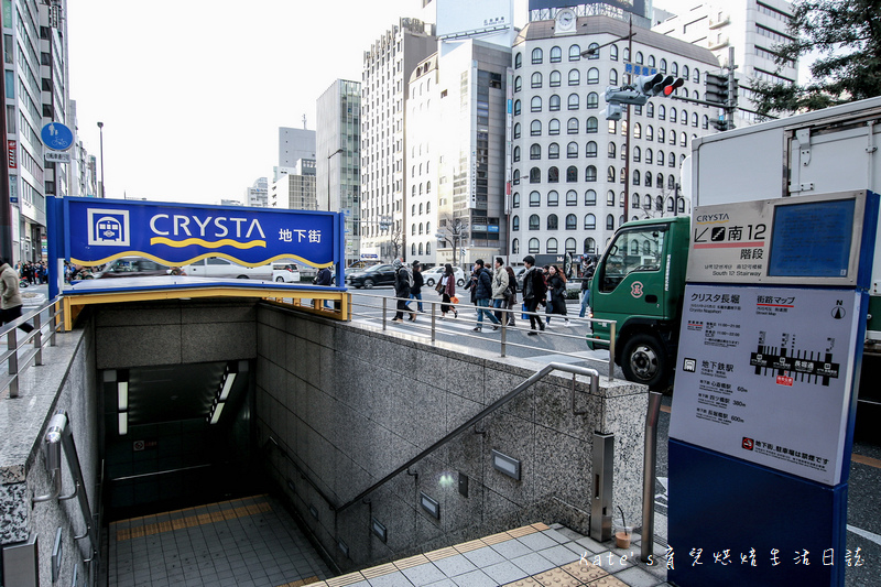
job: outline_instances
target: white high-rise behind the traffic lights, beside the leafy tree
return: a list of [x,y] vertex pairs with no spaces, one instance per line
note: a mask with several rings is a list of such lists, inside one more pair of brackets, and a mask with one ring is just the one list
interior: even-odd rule
[[786,0],[726,0],[695,4],[652,30],[710,50],[721,67],[728,66],[733,48],[735,76],[740,81],[735,124],[742,127],[758,121],[752,113],[755,104],[750,80],[798,83],[797,61],[774,62],[774,47],[792,40],[787,31],[791,18],[792,6]]

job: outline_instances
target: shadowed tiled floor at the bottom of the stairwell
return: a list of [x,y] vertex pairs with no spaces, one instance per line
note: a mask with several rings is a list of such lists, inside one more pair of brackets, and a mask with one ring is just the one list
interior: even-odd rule
[[118,587],[274,587],[330,576],[268,496],[116,522],[109,546],[109,585]]

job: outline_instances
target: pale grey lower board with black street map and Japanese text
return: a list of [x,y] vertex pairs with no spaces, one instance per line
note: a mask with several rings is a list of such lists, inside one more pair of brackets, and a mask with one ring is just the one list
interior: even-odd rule
[[852,290],[687,285],[671,438],[837,485],[859,315]]

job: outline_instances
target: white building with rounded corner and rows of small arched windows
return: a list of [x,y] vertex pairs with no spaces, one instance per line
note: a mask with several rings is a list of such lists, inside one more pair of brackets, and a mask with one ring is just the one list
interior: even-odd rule
[[[674,214],[679,165],[690,139],[715,132],[713,109],[654,97],[630,110],[630,176],[626,118],[605,116],[607,86],[627,81],[626,63],[683,77],[677,95],[703,98],[703,74],[718,69],[709,50],[634,29],[605,15],[530,22],[513,46],[511,258],[600,253],[627,218]],[[616,42],[617,41],[617,42]],[[590,57],[581,53],[598,46]],[[624,183],[629,209],[623,210]],[[682,213],[688,203],[679,200]]]

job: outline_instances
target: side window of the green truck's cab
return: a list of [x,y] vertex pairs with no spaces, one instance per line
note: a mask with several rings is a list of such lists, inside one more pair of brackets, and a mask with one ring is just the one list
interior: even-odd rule
[[619,232],[601,264],[600,291],[611,292],[634,271],[660,270],[665,228],[646,226]]

